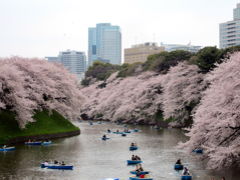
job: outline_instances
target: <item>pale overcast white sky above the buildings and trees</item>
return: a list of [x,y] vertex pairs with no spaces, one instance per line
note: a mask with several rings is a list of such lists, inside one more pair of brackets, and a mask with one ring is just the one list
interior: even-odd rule
[[88,27],[118,25],[122,46],[219,45],[219,23],[240,0],[0,0],[0,57],[87,54]]

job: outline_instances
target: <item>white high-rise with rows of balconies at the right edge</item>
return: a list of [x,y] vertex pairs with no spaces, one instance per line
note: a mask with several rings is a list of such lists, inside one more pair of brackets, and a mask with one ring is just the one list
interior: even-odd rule
[[220,48],[240,45],[240,3],[233,9],[233,20],[219,25],[219,41]]

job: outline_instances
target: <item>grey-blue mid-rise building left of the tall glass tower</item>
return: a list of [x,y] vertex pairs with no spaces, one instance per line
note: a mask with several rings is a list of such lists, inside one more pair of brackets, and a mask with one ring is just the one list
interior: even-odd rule
[[71,73],[77,75],[78,79],[84,78],[86,71],[86,55],[80,51],[62,51],[58,57],[46,57],[50,62],[63,64]]

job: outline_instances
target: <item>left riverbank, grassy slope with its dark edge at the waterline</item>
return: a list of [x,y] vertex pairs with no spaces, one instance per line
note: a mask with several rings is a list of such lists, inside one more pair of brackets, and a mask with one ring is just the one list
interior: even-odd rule
[[58,112],[38,112],[33,117],[36,122],[20,129],[15,115],[9,111],[0,113],[0,144],[15,144],[28,139],[44,140],[69,137],[80,134],[80,129],[74,126]]

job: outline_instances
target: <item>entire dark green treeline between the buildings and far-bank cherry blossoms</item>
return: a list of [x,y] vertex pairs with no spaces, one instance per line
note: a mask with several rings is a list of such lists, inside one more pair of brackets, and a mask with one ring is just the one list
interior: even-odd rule
[[82,85],[89,85],[91,79],[106,80],[112,73],[118,71],[118,77],[135,76],[144,71],[155,71],[159,74],[166,74],[171,66],[177,65],[181,61],[188,61],[189,64],[197,65],[202,73],[211,71],[215,64],[220,64],[224,58],[235,51],[240,51],[240,46],[233,46],[226,49],[218,49],[217,47],[204,47],[197,53],[189,51],[177,50],[172,52],[161,52],[148,56],[146,62],[113,65],[96,61],[86,72],[86,78],[82,81]]

